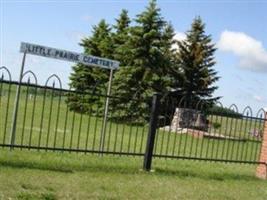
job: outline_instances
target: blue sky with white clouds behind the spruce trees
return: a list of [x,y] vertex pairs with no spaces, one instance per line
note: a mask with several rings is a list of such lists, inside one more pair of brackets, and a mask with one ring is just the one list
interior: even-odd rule
[[[148,1],[44,1],[0,0],[0,65],[17,80],[22,55],[21,41],[82,52],[81,38],[104,18],[114,23],[121,9],[131,18]],[[267,107],[267,1],[158,1],[165,20],[183,39],[195,16],[206,23],[206,32],[217,45],[215,69],[221,76],[216,96],[222,103],[246,105],[254,110]],[[28,56],[25,70],[32,70],[44,84],[52,73],[67,86],[72,63]]]

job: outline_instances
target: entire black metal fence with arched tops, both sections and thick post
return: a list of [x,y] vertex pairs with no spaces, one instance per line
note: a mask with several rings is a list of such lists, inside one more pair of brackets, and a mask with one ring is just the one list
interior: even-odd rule
[[[19,83],[12,81],[6,68],[1,67],[0,73],[2,147],[145,156],[145,169],[150,169],[152,156],[260,163],[266,121],[263,109],[253,115],[250,107],[239,111],[236,105],[226,109],[218,104],[211,109],[201,101],[188,106],[185,98],[155,95],[150,105],[143,106],[150,121],[140,120],[131,114],[130,102],[120,101],[124,97],[93,90],[66,90],[56,75],[39,85],[35,74],[28,71],[21,83],[14,124],[12,115]],[[78,97],[76,109],[69,104],[74,97]],[[105,118],[103,105],[107,99],[110,107]]]

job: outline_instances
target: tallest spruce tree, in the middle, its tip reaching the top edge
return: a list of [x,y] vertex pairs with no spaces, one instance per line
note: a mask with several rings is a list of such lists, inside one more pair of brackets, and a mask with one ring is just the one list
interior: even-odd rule
[[130,51],[126,66],[116,73],[113,91],[124,97],[119,103],[127,104],[125,115],[146,119],[153,93],[165,93],[171,85],[168,71],[174,31],[162,18],[155,0],[137,15],[135,22],[124,46]]

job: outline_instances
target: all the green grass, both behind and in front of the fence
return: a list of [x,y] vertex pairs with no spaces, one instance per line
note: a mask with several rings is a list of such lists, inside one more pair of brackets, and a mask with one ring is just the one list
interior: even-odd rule
[[[6,87],[6,86],[5,86]],[[6,90],[7,88],[5,88]],[[3,90],[2,90],[3,91]],[[29,97],[29,96],[28,96]],[[27,99],[21,94],[17,145],[99,150],[103,118],[70,112],[58,97]],[[0,143],[9,144],[14,87],[0,97]],[[26,103],[27,102],[27,103]],[[112,114],[112,112],[110,112]],[[262,122],[213,118],[209,130],[243,140],[195,138],[157,131],[155,154],[257,161],[260,140],[247,132]],[[109,121],[105,151],[144,153],[148,125]],[[0,149],[0,200],[53,199],[267,199],[267,182],[256,179],[255,165],[153,159],[144,172],[143,157]]]

